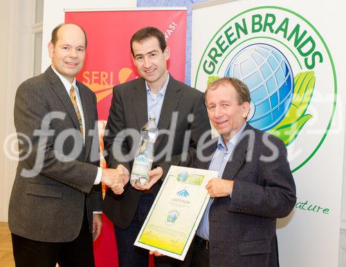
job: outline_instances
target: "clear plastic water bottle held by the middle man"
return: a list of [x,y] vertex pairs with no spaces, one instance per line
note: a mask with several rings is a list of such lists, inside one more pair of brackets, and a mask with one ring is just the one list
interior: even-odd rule
[[149,121],[140,129],[140,143],[134,165],[132,165],[131,185],[145,185],[149,181],[148,172],[152,169],[154,161],[154,143],[158,136],[155,116],[149,115]]

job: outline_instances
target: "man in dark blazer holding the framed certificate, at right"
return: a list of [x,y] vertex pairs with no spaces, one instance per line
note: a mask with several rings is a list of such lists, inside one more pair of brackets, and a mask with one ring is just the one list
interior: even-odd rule
[[235,78],[216,80],[206,91],[220,136],[197,151],[193,165],[218,171],[218,178],[206,185],[211,199],[190,266],[279,266],[276,219],[293,209],[295,183],[282,140],[246,123],[250,101],[247,86]]

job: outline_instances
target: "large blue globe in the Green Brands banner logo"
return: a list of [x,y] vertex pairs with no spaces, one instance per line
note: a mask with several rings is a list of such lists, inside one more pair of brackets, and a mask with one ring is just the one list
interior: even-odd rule
[[286,57],[268,44],[252,44],[233,57],[225,76],[242,80],[251,93],[248,123],[262,131],[286,115],[293,97],[293,73]]

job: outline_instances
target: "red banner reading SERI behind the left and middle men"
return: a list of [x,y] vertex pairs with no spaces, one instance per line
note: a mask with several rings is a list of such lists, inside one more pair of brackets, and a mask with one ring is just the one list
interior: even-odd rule
[[[171,56],[168,70],[174,78],[185,79],[186,10],[118,10],[65,12],[65,22],[86,31],[88,47],[84,68],[77,79],[89,86],[98,98],[100,129],[104,129],[112,88],[138,77],[131,59],[130,39],[140,28],[154,26],[165,34]],[[144,100],[143,100],[144,101]],[[102,131],[100,131],[102,141]],[[101,142],[103,147],[103,143]],[[104,167],[105,163],[101,163]],[[118,267],[113,225],[102,214],[103,227],[94,243],[98,267]],[[149,266],[154,266],[152,257]]]

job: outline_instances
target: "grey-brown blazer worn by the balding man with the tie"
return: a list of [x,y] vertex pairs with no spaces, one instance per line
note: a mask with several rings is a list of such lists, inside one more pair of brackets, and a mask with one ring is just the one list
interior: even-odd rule
[[[19,160],[8,211],[10,231],[21,237],[48,242],[72,241],[82,226],[84,199],[91,225],[93,210],[101,210],[102,188],[93,186],[100,160],[97,128],[92,136],[88,134],[98,120],[96,98],[84,84],[77,82],[77,86],[84,111],[84,145],[69,94],[51,67],[26,80],[17,90],[15,127],[17,134],[28,136],[32,143],[30,149],[26,142],[19,142],[19,151],[27,156]],[[40,145],[37,130],[51,111],[60,111],[64,118],[50,120],[49,130],[40,133],[46,136],[46,142]],[[79,134],[75,138],[67,136],[62,147],[58,147],[55,143],[58,136],[64,136],[69,129],[77,129]],[[82,151],[77,158],[71,158],[68,155],[76,144]],[[24,177],[22,170],[33,169],[39,154],[43,155],[42,168],[36,169],[32,177]]]

